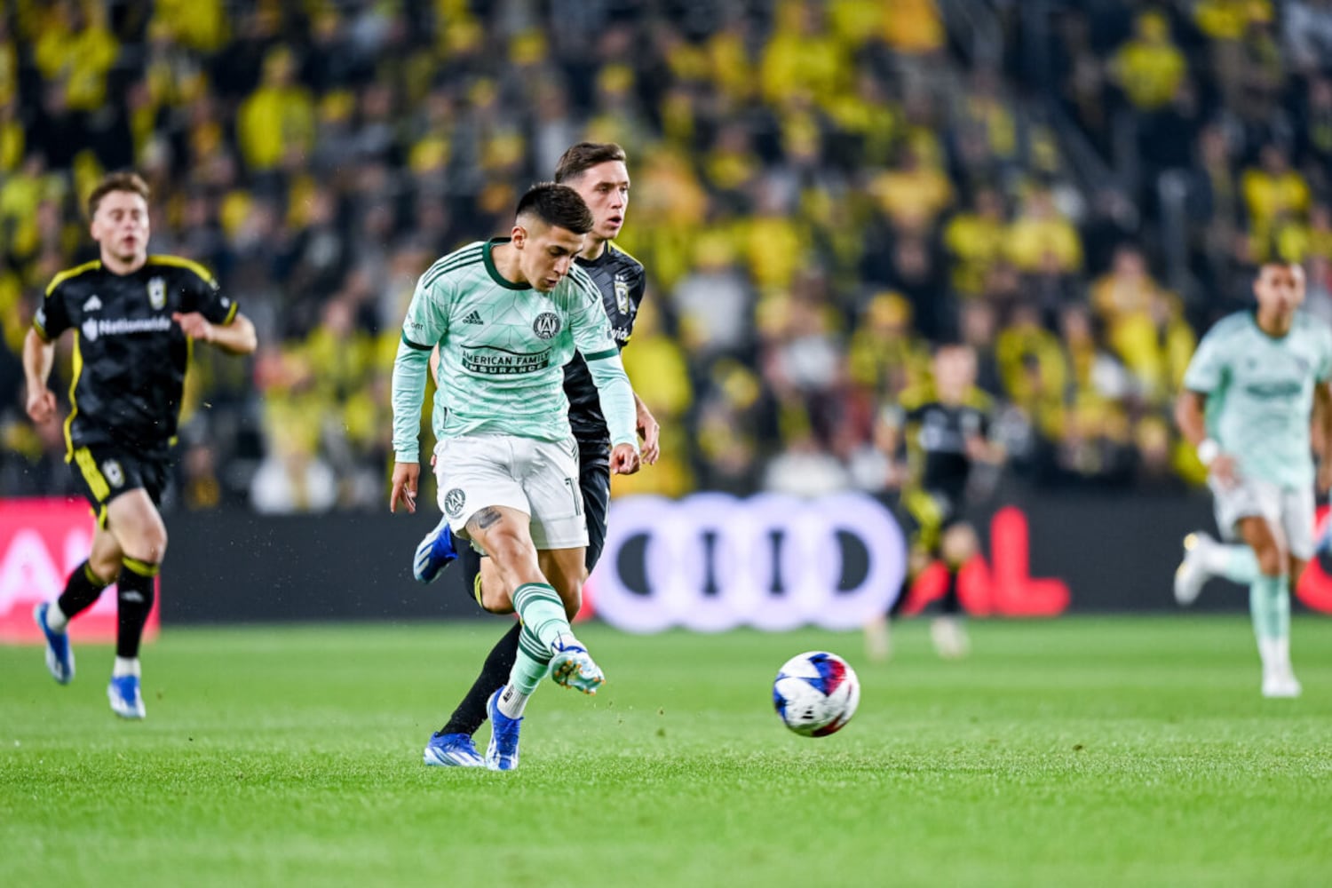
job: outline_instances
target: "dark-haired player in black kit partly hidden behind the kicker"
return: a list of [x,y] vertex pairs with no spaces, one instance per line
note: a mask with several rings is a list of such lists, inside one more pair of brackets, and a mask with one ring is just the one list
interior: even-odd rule
[[[619,234],[629,208],[629,169],[625,150],[614,142],[579,142],[563,153],[555,165],[555,181],[569,185],[583,198],[593,214],[593,229],[575,262],[601,290],[617,345],[625,347],[634,330],[634,318],[643,298],[643,266],[621,250],[613,238]],[[597,386],[581,355],[565,365],[565,394],[569,397],[569,423],[578,441],[578,485],[587,518],[587,571],[597,566],[606,541],[606,513],[610,505],[610,431],[602,415]],[[635,397],[638,433],[643,439],[642,461],[651,465],[658,455],[658,426],[651,413]],[[456,546],[449,519],[426,534],[417,547],[413,574],[424,583],[436,579],[454,558],[465,575],[466,587],[497,582],[490,559],[470,546]],[[472,735],[486,719],[486,702],[507,680],[518,654],[521,626],[514,624],[486,656],[481,674],[462,702],[436,734],[430,764],[476,766]]]

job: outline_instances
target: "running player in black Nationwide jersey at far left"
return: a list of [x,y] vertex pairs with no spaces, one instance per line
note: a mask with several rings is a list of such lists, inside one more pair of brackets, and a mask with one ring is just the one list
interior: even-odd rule
[[73,383],[65,462],[97,515],[88,559],[53,603],[39,604],[47,667],[61,684],[75,675],[65,627],[117,583],[116,663],[107,695],[128,719],[144,718],[139,643],[153,607],[153,580],[166,553],[157,506],[192,341],[230,354],[254,350],[254,325],[200,265],[148,254],[148,185],[112,173],[88,198],[100,258],[61,272],[47,288],[23,343],[28,415],[49,422],[47,387],[56,339],[73,330]]

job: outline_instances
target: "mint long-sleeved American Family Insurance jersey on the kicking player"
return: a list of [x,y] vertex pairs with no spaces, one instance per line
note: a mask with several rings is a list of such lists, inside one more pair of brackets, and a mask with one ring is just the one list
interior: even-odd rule
[[[574,264],[550,292],[506,281],[478,241],[432,265],[417,282],[393,369],[393,450],[417,462],[425,367],[440,346],[432,427],[438,439],[570,435],[565,365],[582,353],[598,383],[613,443],[633,443],[633,390],[601,292]],[[614,417],[611,415],[614,414]]]

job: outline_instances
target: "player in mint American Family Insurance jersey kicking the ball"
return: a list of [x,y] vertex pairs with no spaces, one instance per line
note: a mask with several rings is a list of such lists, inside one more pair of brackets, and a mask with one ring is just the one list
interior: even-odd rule
[[587,694],[605,680],[569,626],[587,576],[578,445],[563,391],[575,350],[606,415],[610,471],[637,471],[639,454],[634,393],[601,293],[574,265],[591,228],[571,188],[529,189],[510,237],[465,246],[421,276],[393,367],[390,510],[398,502],[416,510],[421,395],[438,345],[440,507],[452,533],[480,546],[497,571],[500,582],[481,590],[482,607],[522,619],[509,682],[488,702],[486,766],[501,771],[518,764],[522,712],[547,672]]

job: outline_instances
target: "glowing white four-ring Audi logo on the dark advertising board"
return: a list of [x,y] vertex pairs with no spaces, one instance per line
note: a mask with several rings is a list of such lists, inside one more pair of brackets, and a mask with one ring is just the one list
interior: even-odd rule
[[887,611],[906,563],[902,527],[864,494],[629,497],[611,503],[593,590],[630,632],[851,630]]

